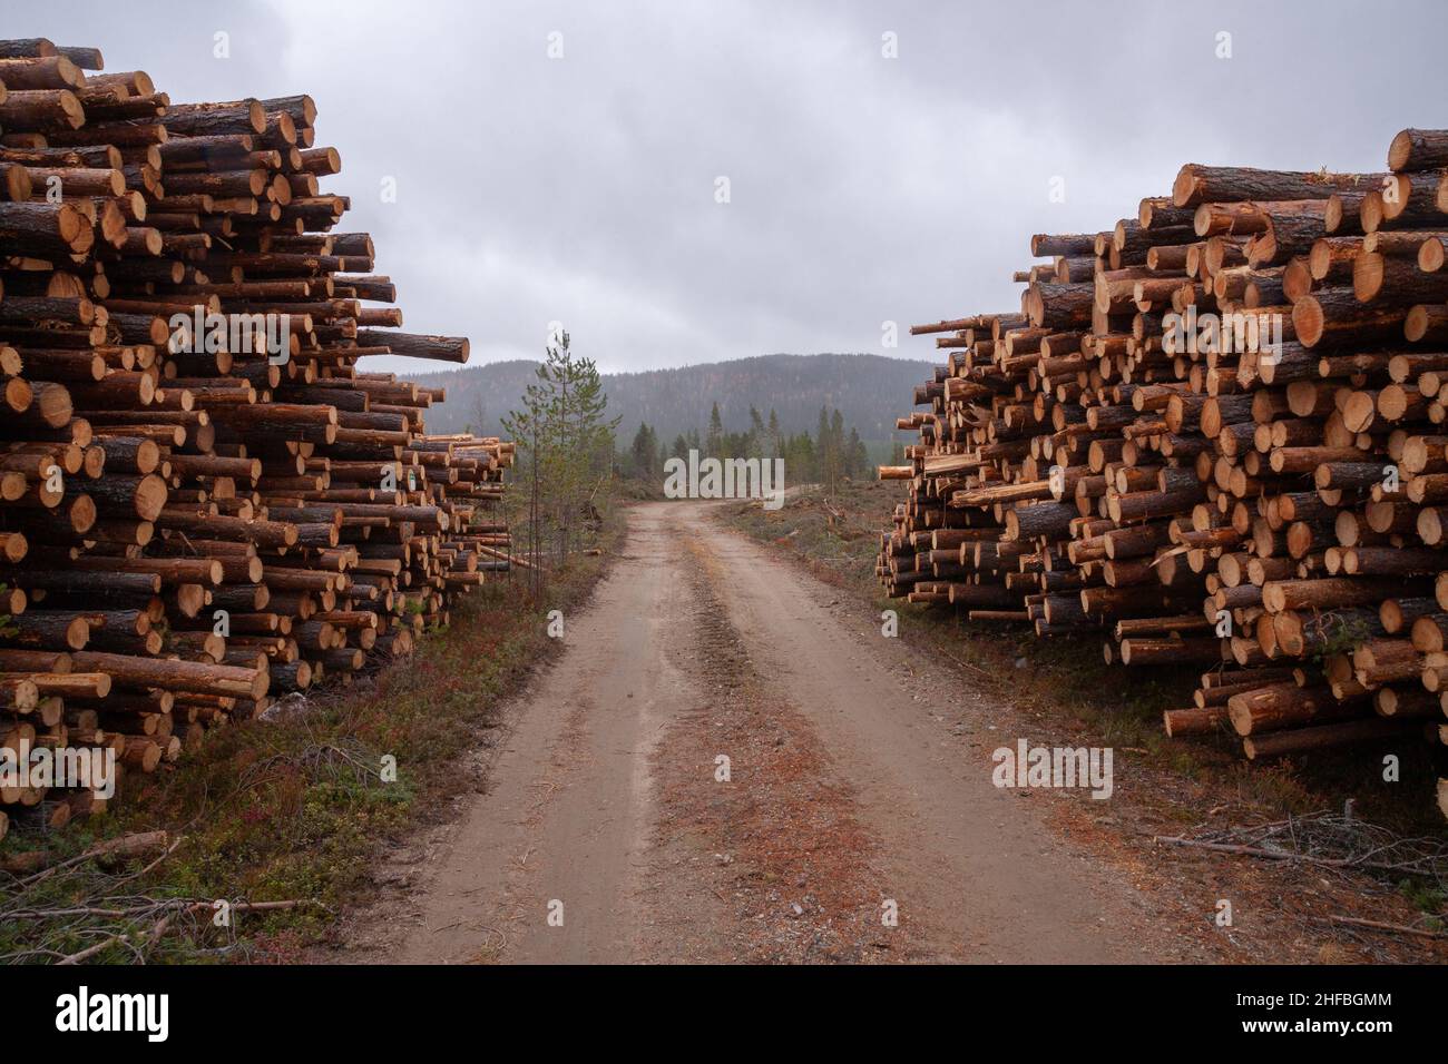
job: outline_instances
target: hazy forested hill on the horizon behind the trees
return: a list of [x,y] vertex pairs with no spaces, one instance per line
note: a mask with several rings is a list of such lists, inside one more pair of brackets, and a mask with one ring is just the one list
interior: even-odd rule
[[[410,375],[430,388],[447,388],[447,401],[427,411],[429,431],[485,434],[515,410],[534,379],[537,362],[492,362],[445,373]],[[895,418],[911,411],[911,391],[933,373],[933,363],[879,355],[760,355],[641,373],[604,373],[610,417],[623,415],[618,446],[626,447],[640,421],[660,440],[708,427],[710,407],[720,404],[725,431],[749,427],[749,408],[767,421],[770,408],[786,433],[815,430],[820,407],[838,408],[867,444],[892,437]]]

